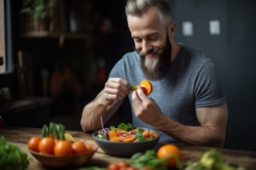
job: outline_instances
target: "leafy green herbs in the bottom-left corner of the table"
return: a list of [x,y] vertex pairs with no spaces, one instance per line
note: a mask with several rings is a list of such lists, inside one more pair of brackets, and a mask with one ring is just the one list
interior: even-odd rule
[[1,170],[25,170],[29,161],[26,153],[13,144],[9,144],[0,137],[0,167]]

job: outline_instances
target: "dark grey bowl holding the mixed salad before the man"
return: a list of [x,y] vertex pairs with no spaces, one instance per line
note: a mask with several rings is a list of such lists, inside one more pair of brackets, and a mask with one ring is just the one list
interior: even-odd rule
[[[150,131],[153,131],[150,129]],[[158,143],[160,136],[155,139],[150,139],[143,142],[112,142],[109,140],[102,140],[96,138],[98,131],[92,133],[93,139],[95,139],[96,144],[108,155],[111,156],[132,156],[137,152],[144,152],[146,150],[154,149],[154,146]]]

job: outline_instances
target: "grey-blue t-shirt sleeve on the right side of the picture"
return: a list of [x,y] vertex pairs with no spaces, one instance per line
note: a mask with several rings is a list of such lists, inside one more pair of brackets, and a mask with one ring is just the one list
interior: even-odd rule
[[221,76],[212,61],[208,60],[195,80],[195,107],[221,105],[225,101]]

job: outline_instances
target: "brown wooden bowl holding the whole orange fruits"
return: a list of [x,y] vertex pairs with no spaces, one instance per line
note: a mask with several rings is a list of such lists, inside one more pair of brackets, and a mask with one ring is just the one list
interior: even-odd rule
[[47,167],[77,167],[83,165],[89,161],[98,149],[97,144],[91,141],[85,141],[86,145],[89,145],[92,150],[73,156],[54,156],[48,154],[41,154],[32,150],[29,152],[34,156],[42,165]]

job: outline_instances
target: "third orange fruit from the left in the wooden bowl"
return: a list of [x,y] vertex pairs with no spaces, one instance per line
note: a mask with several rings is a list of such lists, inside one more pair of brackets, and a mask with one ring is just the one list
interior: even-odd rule
[[73,154],[72,144],[68,140],[59,140],[55,144],[55,156],[71,156]]

